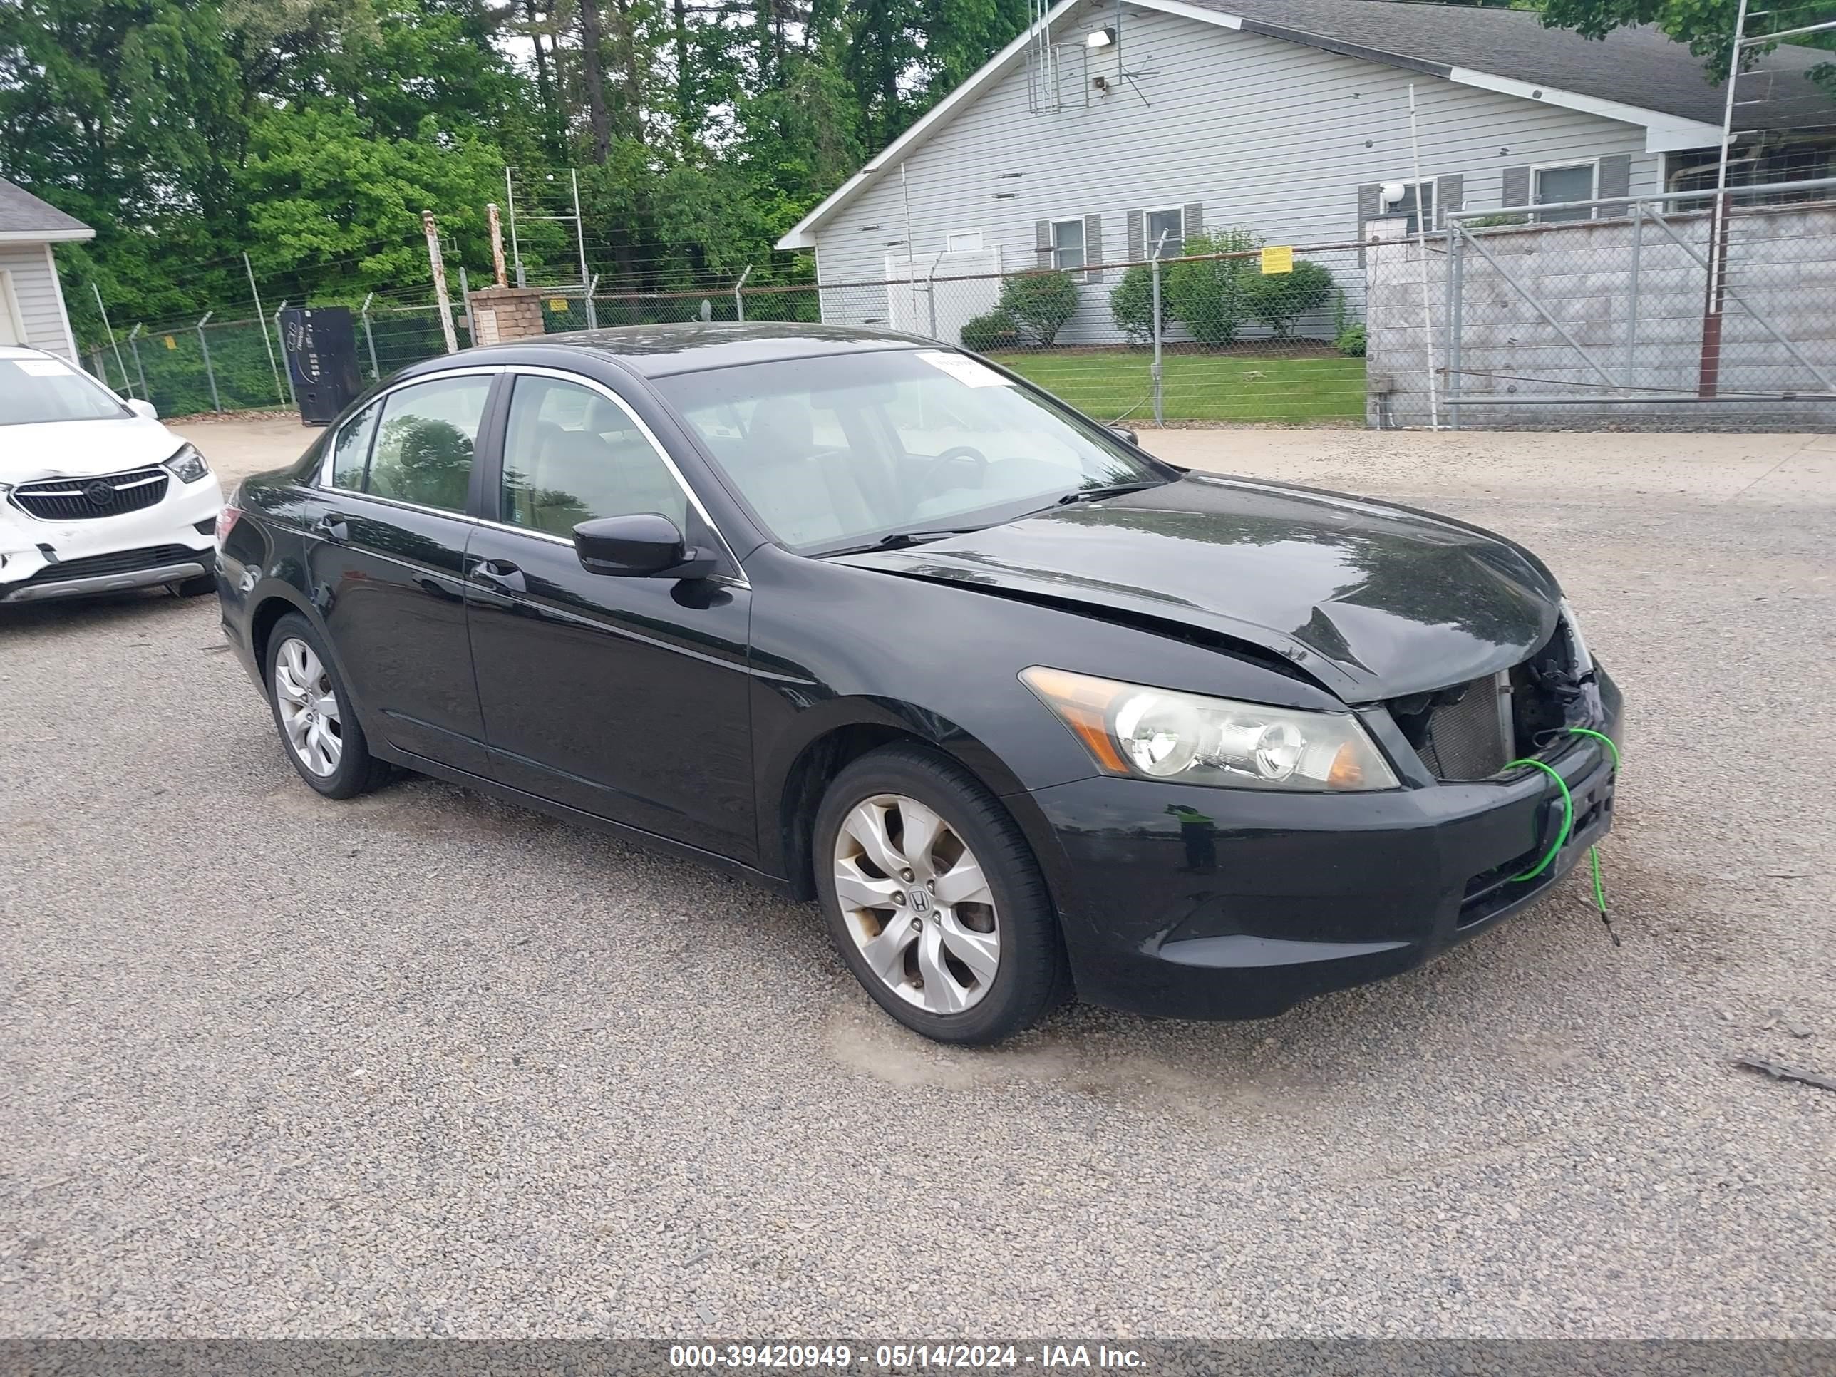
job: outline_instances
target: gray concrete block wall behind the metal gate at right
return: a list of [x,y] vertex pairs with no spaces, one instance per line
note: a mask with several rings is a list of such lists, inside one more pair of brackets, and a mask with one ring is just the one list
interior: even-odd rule
[[[1603,218],[1478,230],[1483,252],[1463,244],[1454,272],[1458,353],[1447,330],[1447,241],[1419,246],[1401,239],[1399,220],[1373,222],[1373,237],[1388,242],[1366,255],[1366,420],[1430,422],[1430,349],[1443,426],[1450,420],[1449,398],[1461,393],[1610,397],[1603,387],[1610,378],[1634,391],[1693,397],[1706,301],[1696,259],[1707,259],[1709,215],[1667,209],[1663,220],[1669,231],[1649,217],[1643,224]],[[1830,391],[1825,380],[1836,382],[1836,204],[1735,211],[1726,275],[1720,391]],[[1450,367],[1458,373],[1449,375]],[[1836,400],[1467,406],[1460,426],[1836,430]]]

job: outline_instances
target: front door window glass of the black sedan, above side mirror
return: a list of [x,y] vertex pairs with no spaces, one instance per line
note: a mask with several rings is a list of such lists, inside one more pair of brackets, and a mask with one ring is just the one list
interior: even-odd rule
[[599,516],[659,512],[677,529],[688,516],[687,494],[624,408],[534,375],[510,393],[501,501],[503,521],[551,536]]

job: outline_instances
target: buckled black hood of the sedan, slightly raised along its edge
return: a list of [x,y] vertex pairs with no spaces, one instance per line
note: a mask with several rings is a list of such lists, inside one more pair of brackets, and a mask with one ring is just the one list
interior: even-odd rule
[[1561,602],[1540,562],[1485,531],[1199,474],[839,562],[1248,641],[1349,703],[1517,665]]

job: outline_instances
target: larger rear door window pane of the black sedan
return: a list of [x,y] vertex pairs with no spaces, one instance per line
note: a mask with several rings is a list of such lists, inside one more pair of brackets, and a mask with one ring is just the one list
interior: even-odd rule
[[384,397],[364,492],[463,512],[490,384],[488,375],[431,378]]

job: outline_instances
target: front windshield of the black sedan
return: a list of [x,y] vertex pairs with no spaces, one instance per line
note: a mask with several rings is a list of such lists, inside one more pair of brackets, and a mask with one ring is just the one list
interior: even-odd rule
[[1170,474],[968,354],[887,349],[655,380],[802,554],[1008,521]]

